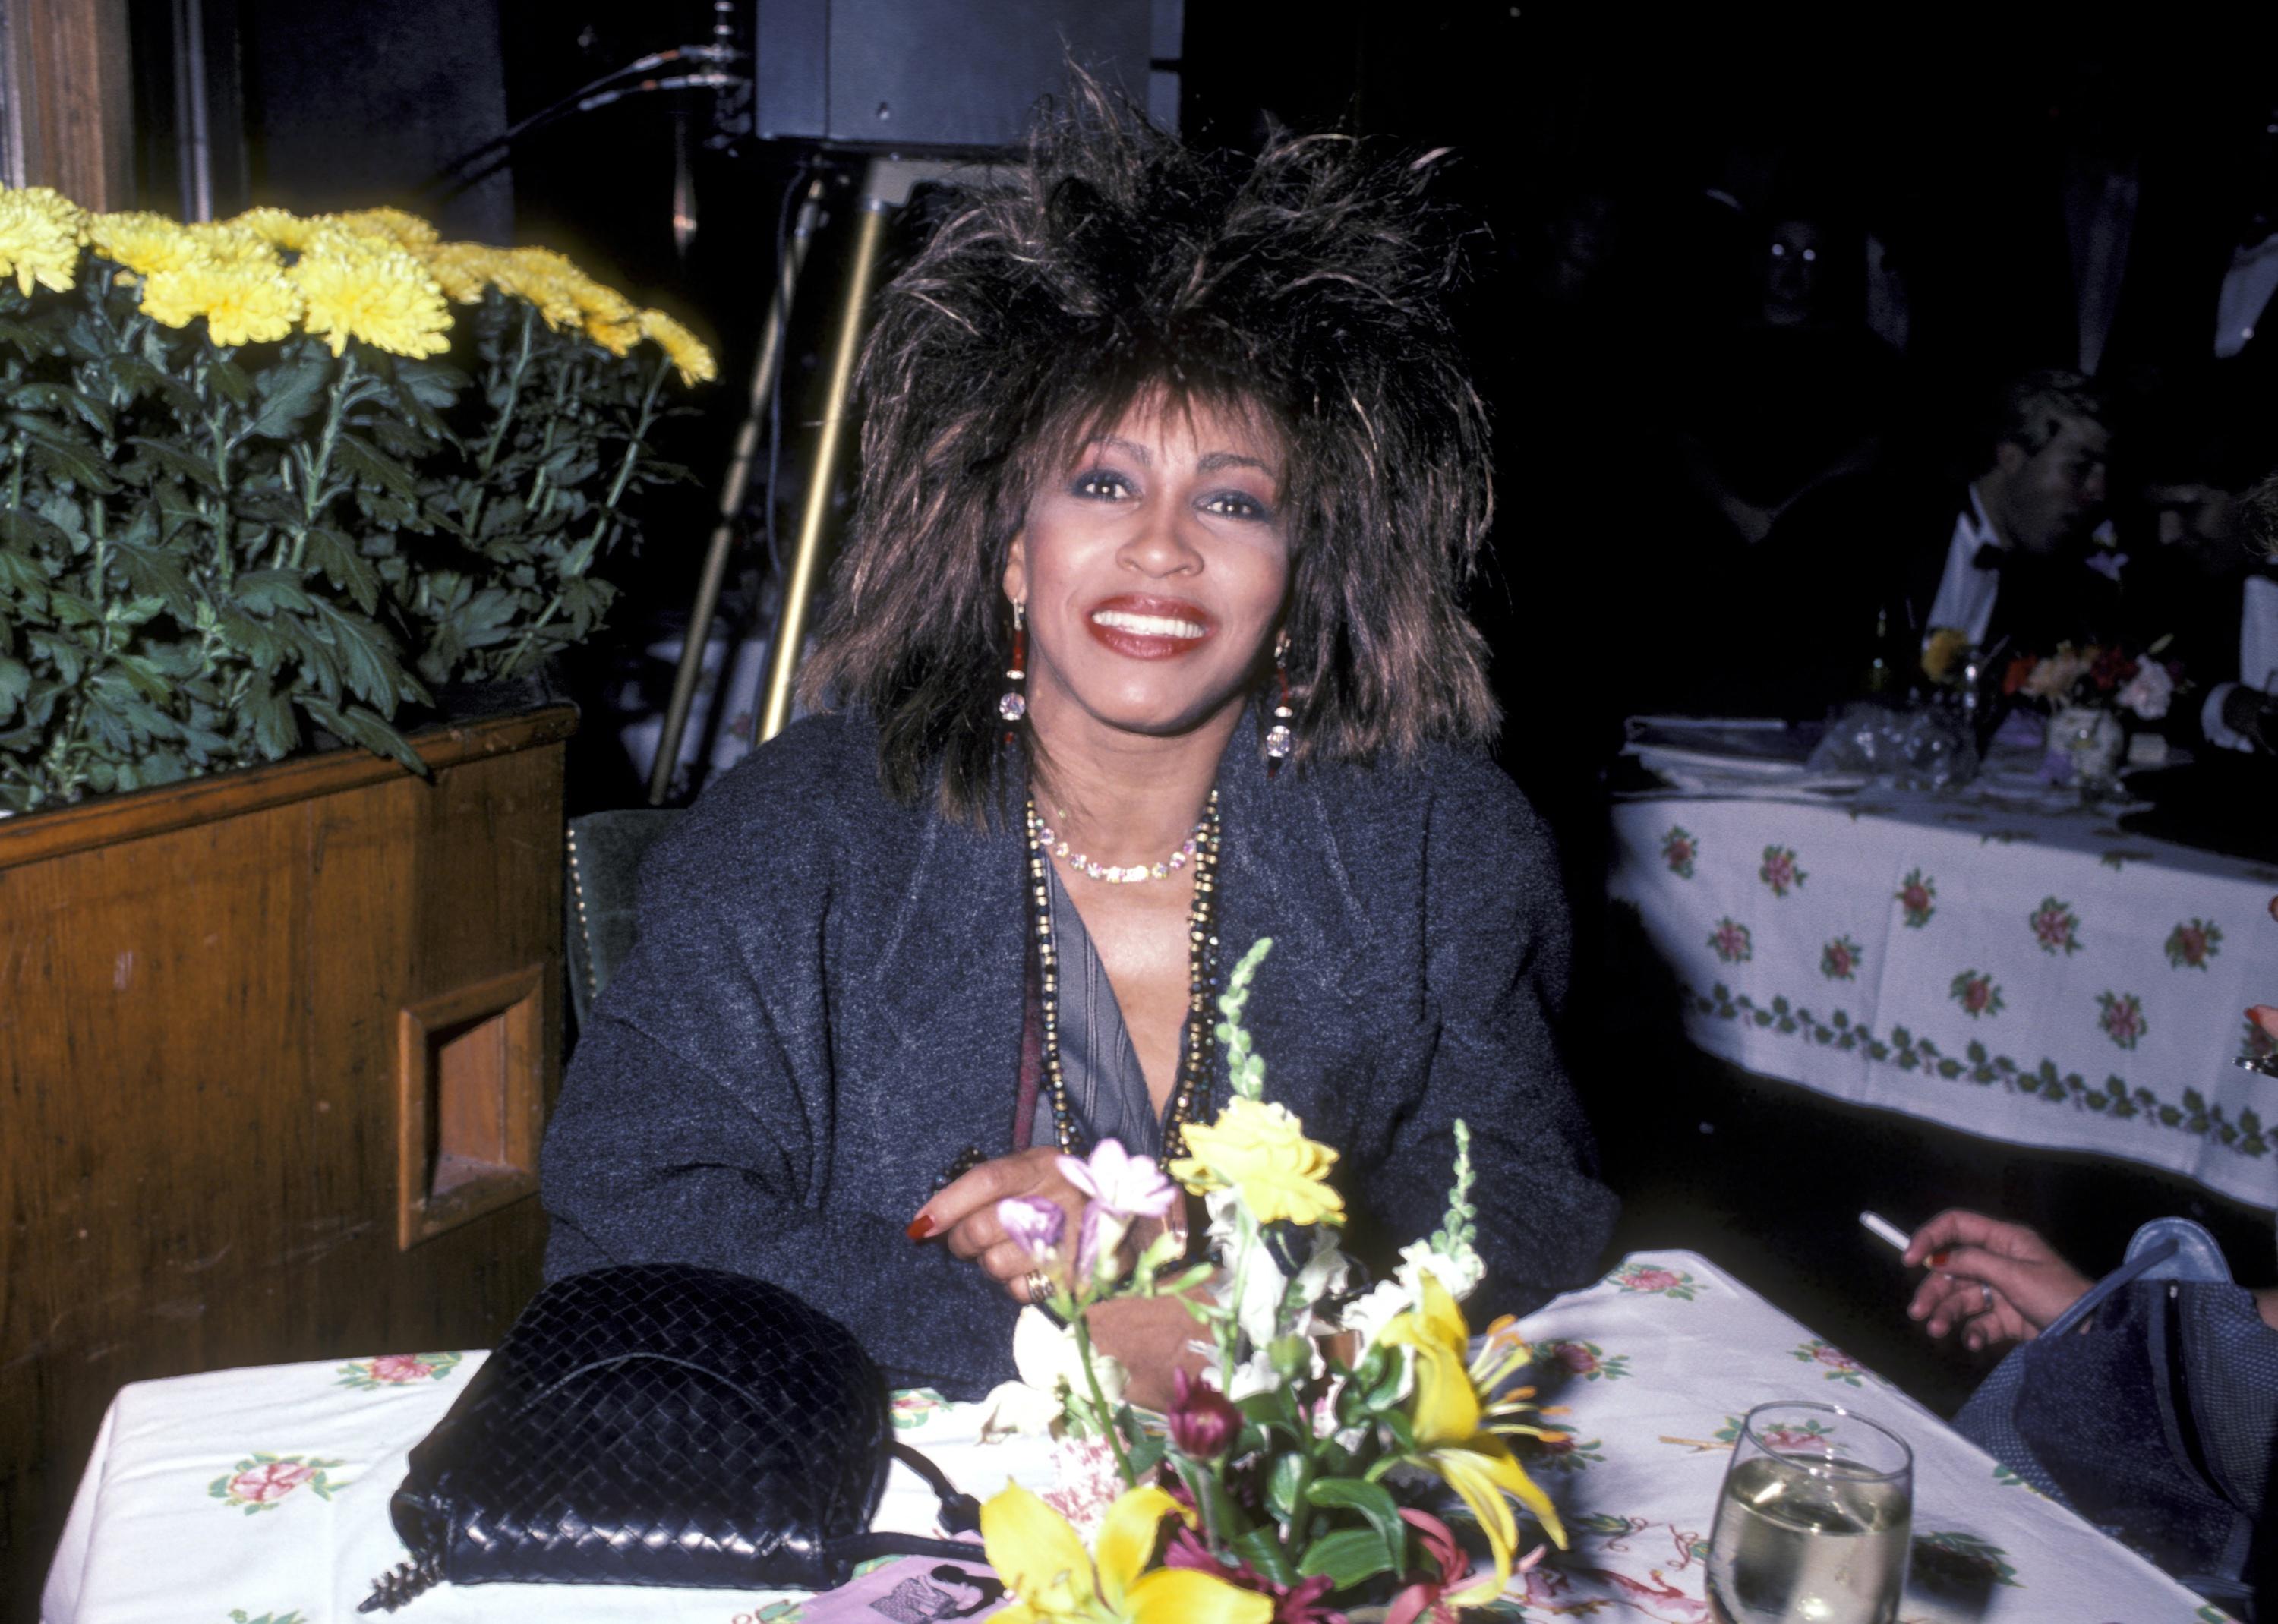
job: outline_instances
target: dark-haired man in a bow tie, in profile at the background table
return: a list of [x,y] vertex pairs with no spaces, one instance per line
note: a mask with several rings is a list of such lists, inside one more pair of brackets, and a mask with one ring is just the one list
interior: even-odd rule
[[2030,371],[2007,387],[1943,551],[1927,538],[1914,549],[1907,601],[1925,645],[1952,629],[1980,649],[2046,654],[2116,615],[2116,553],[2093,544],[2109,453],[2105,396],[2080,374]]

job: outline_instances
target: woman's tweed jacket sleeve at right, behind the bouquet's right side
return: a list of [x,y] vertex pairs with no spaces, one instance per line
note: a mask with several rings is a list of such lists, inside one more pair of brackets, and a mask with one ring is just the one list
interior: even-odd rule
[[1620,1209],[1597,1182],[1590,1125],[1558,1059],[1572,941],[1549,834],[1499,770],[1462,758],[1435,774],[1426,831],[1424,995],[1437,1023],[1424,1098],[1367,1203],[1387,1235],[1440,1228],[1472,1130],[1478,1255],[1474,1328],[1588,1285]]

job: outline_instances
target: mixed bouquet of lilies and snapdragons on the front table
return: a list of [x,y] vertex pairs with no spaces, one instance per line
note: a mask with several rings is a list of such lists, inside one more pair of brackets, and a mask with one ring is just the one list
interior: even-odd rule
[[[1353,1296],[1337,1246],[1344,1205],[1328,1184],[1337,1153],[1264,1098],[1264,1059],[1242,1025],[1269,950],[1255,943],[1228,977],[1216,1032],[1232,1098],[1214,1123],[1187,1130],[1185,1157],[1160,1171],[1112,1141],[1087,1162],[1068,1157],[1066,1175],[1091,1194],[1075,1237],[1041,1203],[1000,1207],[1039,1266],[1073,1262],[1073,1285],[1052,1317],[1023,1312],[1023,1380],[991,1394],[991,1424],[1098,1440],[1114,1462],[1112,1503],[1068,1506],[1073,1519],[1011,1483],[982,1506],[1014,1624],[1321,1622],[1358,1601],[1387,1604],[1394,1624],[1447,1619],[1540,1558],[1540,1544],[1519,1556],[1517,1508],[1565,1542],[1510,1446],[1551,1435],[1533,1387],[1510,1385],[1531,1353],[1508,1319],[1474,1353],[1460,1307],[1483,1276],[1469,1134],[1456,1123],[1442,1228],[1401,1253],[1394,1278]],[[1203,1198],[1214,1262],[1178,1266],[1185,1248],[1169,1230],[1137,1264],[1123,1260],[1132,1225],[1173,1200],[1164,1173]],[[1121,1399],[1121,1371],[1091,1348],[1084,1310],[1164,1294],[1194,1314],[1207,1369],[1175,1376],[1157,1421]],[[1485,1542],[1476,1581],[1435,1510],[1449,1499],[1462,1508],[1449,1515]]]

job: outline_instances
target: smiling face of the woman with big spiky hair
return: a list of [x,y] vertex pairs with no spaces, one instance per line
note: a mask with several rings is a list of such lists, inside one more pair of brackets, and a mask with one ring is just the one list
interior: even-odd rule
[[1175,736],[1239,711],[1287,581],[1278,435],[1141,401],[1043,471],[1005,560],[1032,727]]

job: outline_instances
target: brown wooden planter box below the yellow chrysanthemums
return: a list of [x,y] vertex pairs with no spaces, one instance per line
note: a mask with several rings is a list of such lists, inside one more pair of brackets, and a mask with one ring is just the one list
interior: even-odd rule
[[574,727],[0,820],[0,1615],[121,1383],[487,1346],[538,1287]]

